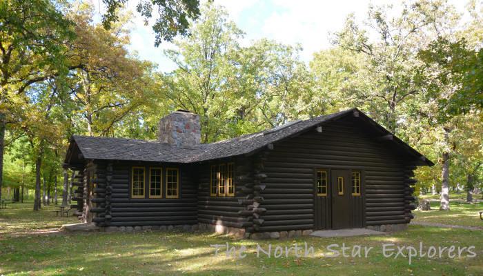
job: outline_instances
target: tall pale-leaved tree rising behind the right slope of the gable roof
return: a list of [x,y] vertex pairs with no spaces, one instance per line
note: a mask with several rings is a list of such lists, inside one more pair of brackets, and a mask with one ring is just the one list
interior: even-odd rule
[[[400,106],[421,92],[418,85],[418,50],[435,37],[435,33],[451,26],[454,12],[445,1],[403,3],[399,17],[389,17],[391,6],[370,6],[366,29],[355,23],[351,14],[344,28],[335,33],[334,43],[346,50],[362,54],[368,88],[355,90],[364,107],[388,130],[397,132]],[[377,34],[370,39],[368,33]]]

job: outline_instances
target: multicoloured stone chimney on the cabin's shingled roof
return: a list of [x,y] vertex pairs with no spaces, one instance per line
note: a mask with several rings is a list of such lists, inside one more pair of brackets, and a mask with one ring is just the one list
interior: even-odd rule
[[201,140],[199,115],[179,109],[159,120],[158,140],[178,148],[193,148]]

